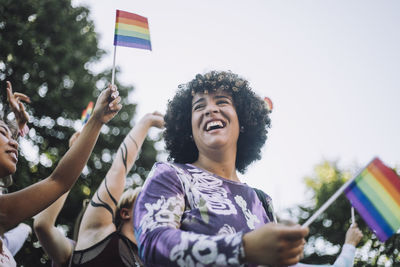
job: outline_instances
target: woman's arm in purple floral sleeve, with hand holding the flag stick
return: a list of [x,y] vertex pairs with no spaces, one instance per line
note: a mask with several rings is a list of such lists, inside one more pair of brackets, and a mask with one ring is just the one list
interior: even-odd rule
[[204,235],[181,230],[185,190],[176,170],[157,163],[152,172],[134,210],[135,236],[146,266],[284,264],[300,254],[298,250],[302,250],[303,237],[308,232],[300,227],[266,224],[244,235]]

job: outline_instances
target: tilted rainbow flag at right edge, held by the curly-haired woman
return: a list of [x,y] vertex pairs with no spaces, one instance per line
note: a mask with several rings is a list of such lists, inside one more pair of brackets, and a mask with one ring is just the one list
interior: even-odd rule
[[380,241],[385,242],[400,229],[400,177],[379,158],[374,158],[344,192]]

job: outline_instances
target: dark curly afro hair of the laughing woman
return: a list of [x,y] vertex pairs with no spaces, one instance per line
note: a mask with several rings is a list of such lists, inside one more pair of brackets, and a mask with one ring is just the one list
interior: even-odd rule
[[168,102],[164,118],[168,160],[177,163],[197,160],[199,151],[192,138],[192,98],[198,92],[217,90],[225,90],[232,95],[239,125],[243,129],[237,142],[236,169],[244,173],[250,163],[261,158],[261,147],[267,140],[271,121],[265,102],[251,90],[245,79],[230,71],[197,74],[189,83],[179,85],[178,92]]

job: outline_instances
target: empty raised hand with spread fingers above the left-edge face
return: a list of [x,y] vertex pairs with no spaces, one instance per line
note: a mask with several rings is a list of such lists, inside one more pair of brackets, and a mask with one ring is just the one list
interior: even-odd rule
[[17,92],[13,93],[11,83],[7,81],[7,101],[10,104],[11,110],[15,114],[15,119],[18,123],[18,129],[23,130],[26,123],[29,121],[29,115],[26,112],[22,101],[31,103],[31,100],[27,95]]

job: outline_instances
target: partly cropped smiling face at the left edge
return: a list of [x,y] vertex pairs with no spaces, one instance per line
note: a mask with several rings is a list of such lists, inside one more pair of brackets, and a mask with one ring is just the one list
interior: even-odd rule
[[7,124],[0,120],[0,177],[17,170],[18,143],[12,138]]

